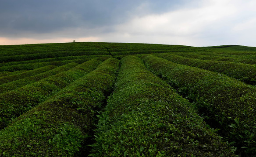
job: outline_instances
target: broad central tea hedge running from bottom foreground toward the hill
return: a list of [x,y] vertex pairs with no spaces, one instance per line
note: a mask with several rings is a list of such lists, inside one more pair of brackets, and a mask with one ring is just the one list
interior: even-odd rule
[[121,59],[113,95],[99,115],[93,157],[234,157],[192,105],[135,56]]

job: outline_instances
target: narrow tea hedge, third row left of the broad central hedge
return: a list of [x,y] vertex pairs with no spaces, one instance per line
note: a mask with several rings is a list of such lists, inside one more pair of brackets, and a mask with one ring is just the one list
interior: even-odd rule
[[[51,75],[56,75],[59,72],[67,71],[71,68],[74,68],[77,65],[78,65],[77,63],[72,62],[72,63],[68,63],[66,65],[59,66],[52,70],[49,70],[47,72],[43,72],[41,74],[37,74],[37,75],[30,76],[27,78],[22,78],[22,79],[13,81],[13,82],[4,83],[4,84],[0,85],[0,93],[9,92],[11,90],[18,89],[24,85],[28,85],[28,84],[37,82],[37,81],[39,81],[43,78],[47,78]],[[53,66],[53,65],[49,65],[49,66]]]

